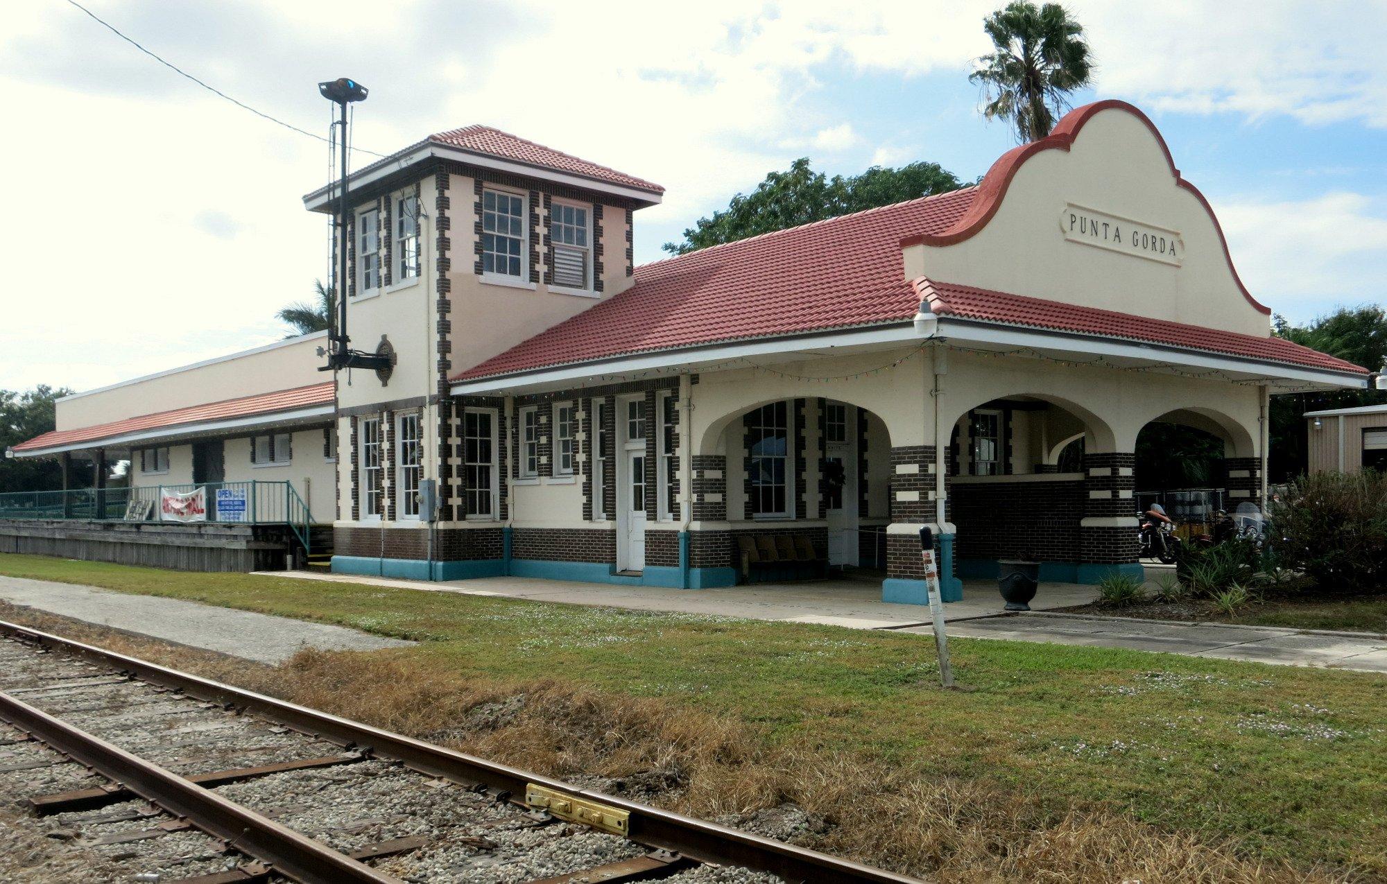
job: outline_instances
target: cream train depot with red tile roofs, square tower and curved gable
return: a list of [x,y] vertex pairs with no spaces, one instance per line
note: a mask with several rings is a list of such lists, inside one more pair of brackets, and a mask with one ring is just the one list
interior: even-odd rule
[[[258,475],[288,435],[284,475],[311,482],[344,574],[699,589],[847,569],[922,603],[925,525],[946,599],[1001,558],[1139,572],[1143,427],[1215,434],[1227,499],[1259,504],[1268,398],[1370,380],[1272,337],[1212,208],[1119,101],[975,187],[635,266],[662,194],[494,129],[430,136],[350,179],[347,328],[390,369],[325,385],[319,342],[287,342],[219,363],[302,359],[241,387],[60,403],[14,454],[136,452],[155,436],[129,424],[153,421],[155,466],[198,481],[198,450]],[[168,417],[189,407],[205,420]]]

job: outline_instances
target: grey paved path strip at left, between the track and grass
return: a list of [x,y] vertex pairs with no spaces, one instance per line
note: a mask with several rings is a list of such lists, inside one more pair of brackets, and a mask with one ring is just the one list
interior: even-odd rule
[[236,611],[182,599],[130,596],[90,586],[12,576],[0,576],[0,599],[100,626],[112,626],[268,664],[288,660],[305,647],[373,651],[413,644],[344,626]]

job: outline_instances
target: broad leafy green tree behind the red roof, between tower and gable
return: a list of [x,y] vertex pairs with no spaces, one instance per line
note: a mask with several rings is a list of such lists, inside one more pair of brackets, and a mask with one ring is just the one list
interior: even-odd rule
[[800,158],[785,172],[767,175],[752,193],[732,197],[728,206],[713,212],[712,218],[698,219],[684,231],[682,242],[666,242],[664,251],[684,255],[960,187],[963,183],[935,162],[913,162],[899,169],[872,166],[861,175],[828,177],[814,172],[809,158]]

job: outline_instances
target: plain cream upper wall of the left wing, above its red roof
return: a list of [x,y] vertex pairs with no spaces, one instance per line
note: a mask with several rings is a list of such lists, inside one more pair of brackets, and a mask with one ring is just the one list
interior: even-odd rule
[[92,427],[190,405],[322,384],[331,380],[318,371],[323,360],[316,349],[325,342],[323,334],[304,335],[212,364],[75,394],[58,400],[57,428]]

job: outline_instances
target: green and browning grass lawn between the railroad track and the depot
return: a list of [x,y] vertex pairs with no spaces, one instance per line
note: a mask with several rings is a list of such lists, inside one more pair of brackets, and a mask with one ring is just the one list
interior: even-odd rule
[[415,639],[240,679],[533,769],[653,776],[703,816],[793,801],[829,822],[817,847],[915,874],[1387,877],[1381,676],[958,639],[975,690],[946,693],[928,637],[895,632],[12,554],[0,574]]

